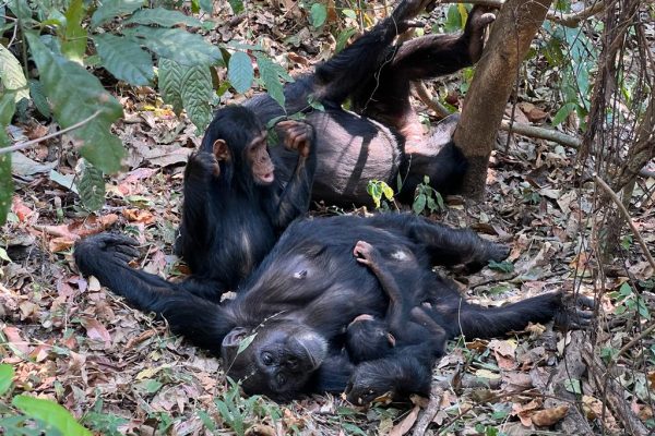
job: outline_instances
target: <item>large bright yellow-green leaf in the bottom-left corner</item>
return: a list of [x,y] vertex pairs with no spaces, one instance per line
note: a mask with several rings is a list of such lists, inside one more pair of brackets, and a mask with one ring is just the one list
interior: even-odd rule
[[[34,398],[24,395],[14,397],[12,404],[29,417],[39,420],[66,436],[93,436],[80,425],[68,410],[52,400]],[[46,432],[47,433],[47,432]]]

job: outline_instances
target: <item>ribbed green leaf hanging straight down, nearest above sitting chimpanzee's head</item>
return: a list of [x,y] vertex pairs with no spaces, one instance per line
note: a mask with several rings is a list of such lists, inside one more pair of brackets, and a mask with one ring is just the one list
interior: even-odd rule
[[195,65],[187,68],[182,76],[182,102],[189,118],[195,126],[204,131],[212,121],[212,74],[209,66]]

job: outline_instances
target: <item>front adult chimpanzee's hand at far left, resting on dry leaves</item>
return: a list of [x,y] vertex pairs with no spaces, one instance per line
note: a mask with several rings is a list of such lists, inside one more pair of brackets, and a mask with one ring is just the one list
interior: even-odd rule
[[98,265],[107,268],[107,263],[127,265],[139,256],[132,238],[119,233],[99,233],[75,243],[75,264],[84,275],[93,274]]

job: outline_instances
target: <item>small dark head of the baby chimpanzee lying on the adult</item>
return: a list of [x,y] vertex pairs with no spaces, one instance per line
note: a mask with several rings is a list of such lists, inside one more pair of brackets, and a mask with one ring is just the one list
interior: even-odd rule
[[395,347],[389,325],[371,315],[357,316],[346,329],[346,348],[355,363],[380,359]]

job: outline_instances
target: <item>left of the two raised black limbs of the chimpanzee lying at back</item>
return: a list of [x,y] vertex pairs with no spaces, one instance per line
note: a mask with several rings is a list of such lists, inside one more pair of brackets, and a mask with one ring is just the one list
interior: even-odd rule
[[407,31],[409,20],[418,15],[433,0],[403,0],[391,16],[376,24],[353,45],[317,68],[314,96],[322,102],[341,105],[373,72],[381,68],[384,58],[393,59],[389,46]]

